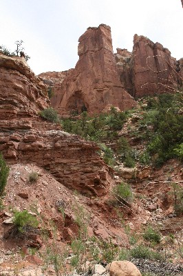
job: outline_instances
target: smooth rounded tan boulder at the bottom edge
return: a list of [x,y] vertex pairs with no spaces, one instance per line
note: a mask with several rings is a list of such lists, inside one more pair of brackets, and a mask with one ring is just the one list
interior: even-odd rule
[[109,267],[110,276],[141,276],[138,268],[129,261],[114,261]]

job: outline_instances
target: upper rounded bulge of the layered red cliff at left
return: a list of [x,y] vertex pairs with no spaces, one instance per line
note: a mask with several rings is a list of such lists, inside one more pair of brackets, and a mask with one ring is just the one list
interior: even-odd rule
[[30,117],[50,106],[47,88],[23,57],[0,52],[0,118]]

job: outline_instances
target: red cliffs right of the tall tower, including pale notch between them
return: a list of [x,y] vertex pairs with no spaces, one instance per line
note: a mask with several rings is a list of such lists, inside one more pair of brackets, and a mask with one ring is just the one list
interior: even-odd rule
[[133,52],[117,48],[122,86],[133,97],[176,92],[182,86],[182,59],[176,61],[160,43],[135,34]]

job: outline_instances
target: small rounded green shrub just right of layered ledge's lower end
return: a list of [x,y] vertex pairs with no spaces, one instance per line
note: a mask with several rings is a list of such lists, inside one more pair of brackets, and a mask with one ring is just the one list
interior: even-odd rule
[[133,200],[133,193],[132,193],[131,187],[124,182],[121,182],[120,184],[118,184],[114,188],[113,192],[115,197],[119,201],[122,201],[122,199],[125,199],[125,201],[127,201],[128,203],[131,203],[131,201]]

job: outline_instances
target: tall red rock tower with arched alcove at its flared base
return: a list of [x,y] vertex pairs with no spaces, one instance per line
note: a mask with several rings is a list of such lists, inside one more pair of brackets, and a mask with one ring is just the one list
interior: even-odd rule
[[83,110],[90,114],[98,113],[109,105],[120,110],[136,106],[120,83],[111,28],[104,24],[98,28],[88,28],[78,41],[79,60],[76,68],[69,71],[60,88],[54,90],[52,106],[62,115]]

